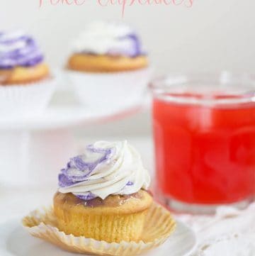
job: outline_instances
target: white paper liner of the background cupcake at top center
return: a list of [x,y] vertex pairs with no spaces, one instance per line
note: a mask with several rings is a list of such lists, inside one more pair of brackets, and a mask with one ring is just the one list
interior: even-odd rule
[[111,73],[67,71],[67,74],[74,85],[78,101],[101,108],[140,101],[151,78],[152,69]]

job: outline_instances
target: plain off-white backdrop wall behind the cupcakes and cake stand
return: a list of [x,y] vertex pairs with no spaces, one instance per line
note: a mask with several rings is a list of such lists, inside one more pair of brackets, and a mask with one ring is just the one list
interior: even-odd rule
[[[0,0],[0,30],[23,28],[33,33],[53,67],[64,64],[70,40],[86,23],[122,19],[120,6],[102,7],[97,0],[85,0],[82,6],[52,6],[50,0],[43,0],[41,8],[39,1]],[[254,0],[193,0],[191,8],[135,4],[126,8],[123,21],[140,32],[159,74],[222,69],[254,72],[254,11]],[[106,125],[105,130],[128,127],[129,131],[147,133],[149,126],[148,115],[140,115]]]

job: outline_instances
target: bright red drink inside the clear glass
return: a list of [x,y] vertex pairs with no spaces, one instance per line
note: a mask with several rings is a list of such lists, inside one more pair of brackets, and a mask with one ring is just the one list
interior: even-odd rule
[[255,193],[255,104],[202,106],[154,99],[159,188],[193,204],[228,204]]

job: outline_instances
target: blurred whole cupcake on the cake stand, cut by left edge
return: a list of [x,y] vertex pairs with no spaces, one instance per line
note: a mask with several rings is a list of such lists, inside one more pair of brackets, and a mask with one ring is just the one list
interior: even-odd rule
[[36,41],[23,31],[0,31],[0,109],[27,116],[42,111],[55,89]]

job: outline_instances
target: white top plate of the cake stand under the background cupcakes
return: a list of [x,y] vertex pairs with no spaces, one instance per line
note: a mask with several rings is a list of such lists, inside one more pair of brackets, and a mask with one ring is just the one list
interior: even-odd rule
[[84,123],[111,121],[135,113],[142,108],[143,102],[133,102],[122,106],[84,107],[49,106],[44,113],[33,117],[0,118],[0,130],[52,130],[69,128]]

